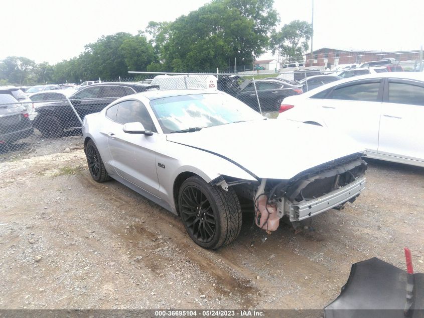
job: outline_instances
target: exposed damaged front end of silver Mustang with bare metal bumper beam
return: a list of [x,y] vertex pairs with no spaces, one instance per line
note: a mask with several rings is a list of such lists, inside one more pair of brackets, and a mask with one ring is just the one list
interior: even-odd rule
[[297,229],[302,220],[355,201],[365,188],[367,164],[361,156],[362,153],[356,153],[342,157],[289,180],[262,178],[258,182],[225,183],[234,186],[240,198],[253,200],[255,224],[259,228],[275,231],[279,220],[287,217]]

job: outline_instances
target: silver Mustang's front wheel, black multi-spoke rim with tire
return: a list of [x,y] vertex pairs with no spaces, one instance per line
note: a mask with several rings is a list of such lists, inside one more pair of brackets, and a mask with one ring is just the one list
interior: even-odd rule
[[205,249],[218,249],[240,234],[241,206],[232,188],[225,191],[192,176],[180,187],[178,207],[190,238]]

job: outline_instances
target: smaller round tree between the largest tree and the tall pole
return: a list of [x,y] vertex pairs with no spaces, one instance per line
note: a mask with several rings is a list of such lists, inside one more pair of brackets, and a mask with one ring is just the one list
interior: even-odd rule
[[287,62],[300,60],[309,49],[311,36],[312,25],[306,21],[295,20],[285,24],[279,32],[271,34],[272,54],[278,52],[278,56]]

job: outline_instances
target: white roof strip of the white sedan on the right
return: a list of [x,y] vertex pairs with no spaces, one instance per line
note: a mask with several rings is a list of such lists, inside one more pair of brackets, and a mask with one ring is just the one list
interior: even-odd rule
[[422,72],[384,72],[384,73],[377,73],[377,74],[365,74],[365,75],[359,75],[359,76],[353,76],[349,78],[340,79],[338,81],[334,81],[334,82],[322,85],[320,87],[311,89],[310,91],[307,91],[299,96],[309,97],[309,96],[315,95],[316,93],[319,93],[320,91],[326,90],[327,88],[344,84],[344,83],[354,82],[357,80],[372,79],[372,78],[386,78],[386,77],[424,81],[424,73]]

